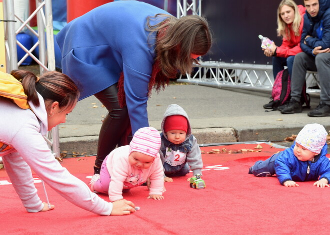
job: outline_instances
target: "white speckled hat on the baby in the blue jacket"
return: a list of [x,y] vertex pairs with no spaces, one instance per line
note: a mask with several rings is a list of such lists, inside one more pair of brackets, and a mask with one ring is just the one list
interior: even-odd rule
[[319,154],[326,142],[327,132],[320,124],[307,124],[298,133],[295,142],[310,152]]

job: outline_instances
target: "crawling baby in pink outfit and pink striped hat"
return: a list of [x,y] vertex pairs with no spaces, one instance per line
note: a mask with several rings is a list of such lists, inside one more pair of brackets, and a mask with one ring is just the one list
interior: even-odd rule
[[138,129],[129,145],[114,149],[103,161],[100,174],[90,181],[91,190],[107,193],[110,202],[122,200],[122,192],[150,180],[147,199],[164,197],[164,180],[159,132],[153,127]]

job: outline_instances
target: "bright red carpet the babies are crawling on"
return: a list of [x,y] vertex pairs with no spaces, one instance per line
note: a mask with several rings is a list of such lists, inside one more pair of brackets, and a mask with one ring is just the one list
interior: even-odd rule
[[[166,183],[167,191],[160,201],[147,200],[146,187],[134,188],[123,196],[140,210],[129,216],[94,215],[64,201],[48,186],[49,201],[55,209],[27,213],[12,186],[3,185],[8,178],[1,169],[0,232],[14,235],[329,234],[330,188],[316,188],[312,182],[285,188],[275,177],[248,175],[248,167],[256,160],[280,151],[267,144],[260,145],[262,149],[254,149],[257,144],[202,147],[205,189],[189,187],[186,178],[191,173]],[[248,152],[258,150],[261,151]],[[88,183],[86,176],[90,176],[93,162],[94,157],[83,157],[64,159],[61,164]],[[35,185],[40,198],[45,199],[42,185]],[[101,197],[107,200],[106,195]]]

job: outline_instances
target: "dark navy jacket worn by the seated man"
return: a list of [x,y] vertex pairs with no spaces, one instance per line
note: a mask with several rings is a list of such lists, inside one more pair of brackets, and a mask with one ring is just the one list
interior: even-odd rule
[[[319,10],[316,16],[311,17],[306,11],[303,16],[303,29],[300,39],[302,51],[309,55],[316,46],[322,49],[330,47],[330,0],[318,0]],[[307,37],[304,39],[307,35]],[[304,40],[306,44],[304,44]],[[315,55],[313,55],[315,56]]]

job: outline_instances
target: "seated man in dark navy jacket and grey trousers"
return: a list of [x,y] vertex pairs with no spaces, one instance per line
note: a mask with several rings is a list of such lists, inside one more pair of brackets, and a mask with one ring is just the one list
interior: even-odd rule
[[311,117],[330,116],[330,0],[304,0],[306,13],[303,17],[300,47],[293,62],[291,78],[291,99],[278,107],[283,114],[301,113],[301,91],[306,71],[317,71],[320,84],[320,102],[307,115]]

